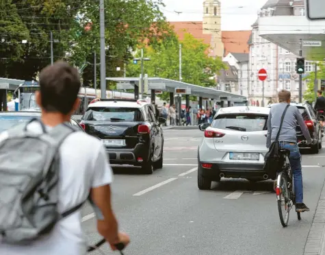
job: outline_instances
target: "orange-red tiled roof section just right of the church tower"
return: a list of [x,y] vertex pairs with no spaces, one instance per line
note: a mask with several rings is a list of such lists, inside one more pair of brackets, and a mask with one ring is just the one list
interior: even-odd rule
[[248,40],[252,31],[222,31],[224,56],[232,53],[249,53]]

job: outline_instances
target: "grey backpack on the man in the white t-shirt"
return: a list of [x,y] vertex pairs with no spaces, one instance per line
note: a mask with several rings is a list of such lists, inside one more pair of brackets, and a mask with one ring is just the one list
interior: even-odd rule
[[[33,121],[40,123],[42,134],[27,130]],[[23,245],[39,239],[83,204],[62,215],[57,211],[59,148],[77,130],[63,123],[47,132],[38,119],[29,123],[12,128],[0,142],[0,243]]]

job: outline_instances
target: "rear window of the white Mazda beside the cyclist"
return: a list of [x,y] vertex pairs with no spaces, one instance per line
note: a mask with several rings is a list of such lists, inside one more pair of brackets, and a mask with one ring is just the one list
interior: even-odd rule
[[268,115],[220,114],[213,120],[211,127],[242,132],[263,131],[268,129]]

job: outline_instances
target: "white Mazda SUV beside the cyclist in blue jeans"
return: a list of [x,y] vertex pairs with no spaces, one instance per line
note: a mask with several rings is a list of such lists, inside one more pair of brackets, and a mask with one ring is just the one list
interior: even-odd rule
[[268,180],[263,171],[270,108],[237,106],[221,108],[198,147],[198,189],[211,189],[221,178]]

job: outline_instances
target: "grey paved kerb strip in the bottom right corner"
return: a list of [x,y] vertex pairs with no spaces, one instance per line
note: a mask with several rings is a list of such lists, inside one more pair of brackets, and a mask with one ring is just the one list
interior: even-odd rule
[[[324,182],[325,184],[325,182]],[[325,185],[317,203],[313,223],[307,236],[303,255],[325,255]]]

